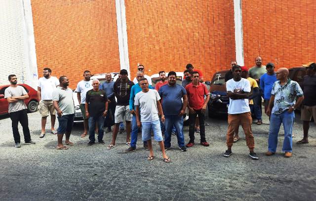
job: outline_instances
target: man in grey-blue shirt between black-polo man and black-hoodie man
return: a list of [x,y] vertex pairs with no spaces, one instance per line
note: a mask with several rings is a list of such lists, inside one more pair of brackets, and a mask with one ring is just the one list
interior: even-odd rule
[[114,81],[112,81],[111,73],[105,74],[105,79],[106,79],[105,82],[100,84],[100,89],[106,92],[108,100],[109,100],[109,111],[105,118],[105,123],[106,123],[105,126],[108,127],[105,133],[109,133],[112,131],[111,126],[114,125],[114,114],[115,114],[115,107],[117,106],[117,102],[115,100]]

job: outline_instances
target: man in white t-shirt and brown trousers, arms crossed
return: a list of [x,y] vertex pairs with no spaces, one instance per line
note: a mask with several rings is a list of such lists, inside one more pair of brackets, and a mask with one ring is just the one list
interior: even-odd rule
[[249,148],[249,156],[257,160],[259,159],[253,151],[255,142],[251,131],[252,118],[249,108],[249,93],[251,91],[250,82],[241,78],[241,67],[235,65],[233,67],[234,78],[226,82],[227,95],[230,97],[228,106],[228,130],[226,135],[227,150],[224,157],[230,157],[232,146],[234,143],[234,133],[239,127],[239,123],[246,136],[246,143]]

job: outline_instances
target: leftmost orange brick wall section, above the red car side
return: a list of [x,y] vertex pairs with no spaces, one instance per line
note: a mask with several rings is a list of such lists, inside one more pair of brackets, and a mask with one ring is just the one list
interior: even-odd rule
[[115,0],[32,0],[39,76],[68,76],[70,87],[92,74],[118,72]]

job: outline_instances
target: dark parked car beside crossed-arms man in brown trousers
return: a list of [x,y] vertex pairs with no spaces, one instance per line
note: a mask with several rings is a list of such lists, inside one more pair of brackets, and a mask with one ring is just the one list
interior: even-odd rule
[[208,117],[216,115],[227,115],[229,97],[225,87],[225,74],[229,70],[217,71],[210,82],[210,99],[208,101]]

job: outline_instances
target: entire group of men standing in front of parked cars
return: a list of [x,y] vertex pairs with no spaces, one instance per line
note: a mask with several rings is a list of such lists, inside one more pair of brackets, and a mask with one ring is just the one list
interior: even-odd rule
[[[239,139],[238,127],[241,124],[246,143],[249,148],[249,156],[258,159],[254,152],[254,137],[251,130],[253,115],[257,124],[262,124],[261,97],[264,99],[265,113],[270,119],[269,140],[267,156],[276,153],[277,134],[281,123],[284,126],[283,151],[285,157],[292,156],[292,127],[294,110],[302,106],[302,120],[304,137],[297,144],[308,143],[309,121],[316,120],[316,97],[313,89],[316,87],[316,64],[311,62],[306,67],[307,75],[303,83],[303,90],[299,84],[288,79],[288,70],[280,68],[275,73],[273,63],[262,65],[261,57],[255,59],[256,66],[248,70],[240,67],[234,61],[232,69],[225,76],[226,88],[230,103],[228,106],[228,150],[224,156],[232,154],[232,146]],[[100,84],[99,80],[91,80],[89,71],[83,73],[76,88],[80,109],[84,119],[84,131],[81,137],[89,134],[87,146],[95,143],[95,131],[98,133],[98,142],[103,141],[103,127],[106,123],[107,131],[114,124],[112,141],[107,149],[116,147],[116,138],[119,124],[126,123],[126,145],[129,146],[125,153],[136,151],[138,132],[142,132],[144,147],[150,150],[148,160],[154,159],[151,142],[151,132],[158,141],[162,151],[163,161],[170,162],[165,151],[171,148],[171,133],[174,129],[177,133],[178,146],[181,151],[195,145],[195,132],[200,133],[200,144],[209,146],[205,139],[205,109],[209,100],[209,92],[203,84],[203,76],[200,71],[194,70],[192,64],[186,66],[182,85],[176,83],[177,75],[170,71],[159,72],[160,81],[155,89],[151,85],[151,79],[144,74],[144,66],[138,66],[136,78],[128,79],[126,70],[120,71],[120,77],[112,81],[111,74],[106,74],[106,81]],[[5,90],[5,98],[9,103],[9,114],[12,120],[15,147],[20,147],[20,135],[17,124],[23,126],[26,144],[35,144],[30,137],[26,106],[23,99],[28,95],[25,89],[17,85],[15,75],[8,77],[10,87]],[[49,68],[43,69],[43,77],[39,79],[38,97],[40,101],[41,134],[45,136],[45,124],[47,116],[51,116],[51,133],[57,134],[58,143],[56,149],[66,150],[63,145],[63,135],[66,135],[65,145],[72,146],[69,140],[74,121],[73,91],[68,87],[69,80],[61,76],[59,80],[51,76]],[[304,96],[305,95],[305,99]],[[116,100],[117,99],[117,100]],[[303,100],[304,99],[304,100]],[[189,137],[187,144],[183,134],[183,115],[186,108],[189,109]],[[55,115],[59,121],[57,130],[54,128]],[[112,123],[114,121],[114,123]],[[96,126],[97,125],[97,126]],[[97,127],[97,129],[96,129]],[[162,138],[164,133],[164,141]],[[234,136],[235,135],[235,136]]]

